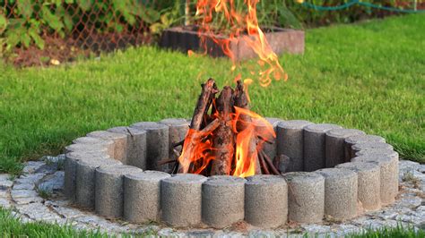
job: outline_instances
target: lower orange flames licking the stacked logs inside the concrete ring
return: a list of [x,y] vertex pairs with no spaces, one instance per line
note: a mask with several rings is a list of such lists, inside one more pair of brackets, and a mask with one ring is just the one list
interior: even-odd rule
[[[215,119],[219,115],[213,115]],[[249,116],[252,122],[244,122],[243,117]],[[231,130],[236,135],[236,150],[234,153],[235,167],[231,168],[230,173],[234,176],[247,177],[256,174],[257,153],[263,147],[264,140],[258,141],[254,151],[249,151],[252,138],[263,138],[273,140],[276,134],[273,125],[268,123],[261,115],[257,115],[247,109],[235,106],[235,113],[231,114]],[[242,131],[238,131],[237,124],[245,123]],[[182,154],[178,157],[178,162],[182,167],[181,173],[203,174],[204,170],[215,159],[212,145],[213,130],[195,131],[189,129],[187,132]],[[233,145],[231,145],[233,146]],[[232,151],[233,149],[229,149]]]

